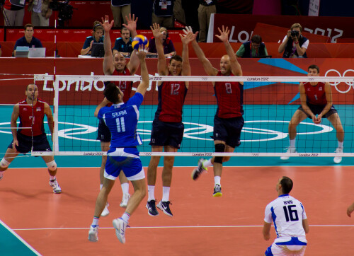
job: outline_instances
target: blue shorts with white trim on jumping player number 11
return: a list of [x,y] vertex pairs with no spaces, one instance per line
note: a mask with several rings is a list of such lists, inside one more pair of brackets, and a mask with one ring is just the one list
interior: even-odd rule
[[142,180],[142,178],[145,178],[144,175],[142,176],[144,170],[136,147],[111,148],[108,150],[107,162],[105,163],[105,178],[115,180],[121,170],[128,180]]

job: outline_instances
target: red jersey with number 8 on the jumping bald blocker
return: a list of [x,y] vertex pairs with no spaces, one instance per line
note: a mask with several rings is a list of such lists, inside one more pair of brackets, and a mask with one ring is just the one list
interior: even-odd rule
[[[217,76],[224,75],[219,71]],[[217,97],[217,117],[232,118],[244,115],[244,85],[239,82],[215,82],[214,91]]]

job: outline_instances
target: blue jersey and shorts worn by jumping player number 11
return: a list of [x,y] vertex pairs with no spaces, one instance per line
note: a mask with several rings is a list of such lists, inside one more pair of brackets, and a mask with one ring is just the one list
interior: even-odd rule
[[105,122],[112,134],[104,174],[105,178],[109,180],[115,180],[120,170],[128,180],[145,178],[137,150],[137,146],[142,144],[142,140],[137,134],[137,122],[139,107],[143,99],[141,93],[135,93],[127,103],[102,107],[98,112],[98,119]]

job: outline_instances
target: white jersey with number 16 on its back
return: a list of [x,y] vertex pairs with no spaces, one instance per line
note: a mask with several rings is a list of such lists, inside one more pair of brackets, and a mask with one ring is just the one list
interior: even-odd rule
[[277,233],[275,243],[290,241],[292,237],[297,237],[301,242],[307,243],[302,226],[303,219],[307,219],[304,206],[289,194],[282,194],[265,207],[264,221],[274,222]]

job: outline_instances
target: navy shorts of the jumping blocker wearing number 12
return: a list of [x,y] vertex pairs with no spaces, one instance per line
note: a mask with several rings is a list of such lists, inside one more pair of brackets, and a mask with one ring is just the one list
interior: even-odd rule
[[173,148],[179,149],[183,139],[183,132],[183,122],[154,120],[149,144],[152,146],[173,146]]

